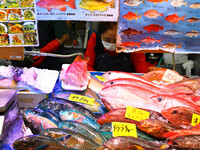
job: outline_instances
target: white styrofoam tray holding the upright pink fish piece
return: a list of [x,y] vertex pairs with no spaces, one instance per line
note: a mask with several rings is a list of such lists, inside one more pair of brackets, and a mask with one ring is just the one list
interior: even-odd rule
[[[63,64],[62,69],[67,70],[67,68],[69,66],[70,66],[70,64]],[[65,84],[63,81],[61,81],[61,87],[65,90],[70,90],[70,91],[84,91],[87,88],[87,85],[85,85],[83,87],[79,87],[79,86],[73,86],[73,85]]]

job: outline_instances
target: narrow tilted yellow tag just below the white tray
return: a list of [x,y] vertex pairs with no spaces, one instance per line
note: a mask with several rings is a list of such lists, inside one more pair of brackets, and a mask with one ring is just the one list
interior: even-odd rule
[[84,103],[84,104],[88,104],[88,105],[93,105],[94,101],[95,101],[94,98],[90,98],[90,97],[86,97],[86,96],[82,96],[82,95],[77,95],[77,94],[71,94],[68,99],[71,100],[71,101]]

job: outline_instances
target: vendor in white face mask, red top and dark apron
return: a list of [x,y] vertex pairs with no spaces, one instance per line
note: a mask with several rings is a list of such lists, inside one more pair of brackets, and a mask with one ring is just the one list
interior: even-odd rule
[[89,57],[88,71],[125,71],[146,73],[144,53],[116,53],[116,22],[100,22],[98,32],[92,33],[85,57]]

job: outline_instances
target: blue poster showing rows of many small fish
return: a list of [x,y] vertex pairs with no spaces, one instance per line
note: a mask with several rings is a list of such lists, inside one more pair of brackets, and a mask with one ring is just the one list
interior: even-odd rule
[[199,0],[120,0],[117,52],[200,52]]

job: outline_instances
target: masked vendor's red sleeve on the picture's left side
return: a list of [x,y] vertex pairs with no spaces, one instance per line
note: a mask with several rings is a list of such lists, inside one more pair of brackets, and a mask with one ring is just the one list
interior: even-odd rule
[[94,71],[94,64],[95,64],[95,58],[96,58],[96,53],[94,51],[95,46],[96,46],[96,33],[92,33],[87,43],[87,48],[85,52],[85,57],[90,58],[87,63],[88,71]]

